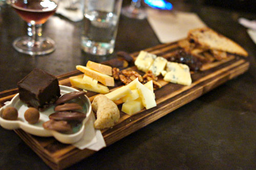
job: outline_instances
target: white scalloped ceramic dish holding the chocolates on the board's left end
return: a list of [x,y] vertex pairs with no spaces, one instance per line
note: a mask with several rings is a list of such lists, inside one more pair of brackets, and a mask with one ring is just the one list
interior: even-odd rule
[[[61,95],[72,92],[72,91],[78,91],[78,90],[68,86],[60,85]],[[11,100],[11,102],[8,105],[5,105],[4,107],[0,108],[0,115],[1,115],[5,108],[10,106],[15,107],[18,111],[18,119],[6,120],[0,116],[0,125],[3,128],[9,129],[9,130],[20,128],[25,132],[28,132],[36,136],[43,136],[43,137],[53,136],[62,143],[75,143],[78,140],[80,140],[83,135],[84,125],[89,119],[89,115],[91,114],[91,111],[92,111],[92,106],[89,98],[86,95],[81,96],[78,99],[75,99],[74,102],[79,103],[83,106],[83,113],[86,114],[87,117],[83,120],[80,127],[73,129],[74,131],[76,130],[77,132],[74,132],[72,134],[64,134],[64,133],[59,133],[53,130],[46,130],[42,127],[42,124],[49,120],[49,115],[54,113],[54,110],[53,110],[54,106],[51,106],[45,111],[40,112],[40,118],[38,123],[33,125],[29,124],[24,118],[24,113],[28,109],[28,107],[25,103],[19,100],[18,94],[14,96],[14,98]]]

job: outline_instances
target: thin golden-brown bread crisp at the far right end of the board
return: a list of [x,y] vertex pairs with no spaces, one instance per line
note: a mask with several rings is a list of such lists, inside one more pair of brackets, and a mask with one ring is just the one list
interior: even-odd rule
[[197,45],[210,50],[248,56],[248,53],[239,44],[207,27],[190,30],[188,39],[192,39]]

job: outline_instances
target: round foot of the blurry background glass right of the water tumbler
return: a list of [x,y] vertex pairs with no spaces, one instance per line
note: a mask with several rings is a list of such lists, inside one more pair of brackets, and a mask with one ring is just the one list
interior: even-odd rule
[[132,5],[124,7],[122,9],[122,14],[129,18],[135,19],[145,19],[146,18],[146,11],[142,8],[136,8]]

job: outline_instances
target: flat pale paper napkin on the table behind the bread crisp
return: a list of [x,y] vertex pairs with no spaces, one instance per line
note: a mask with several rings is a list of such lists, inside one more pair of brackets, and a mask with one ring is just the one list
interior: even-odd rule
[[183,39],[189,30],[206,26],[195,13],[151,8],[147,9],[147,20],[161,43]]

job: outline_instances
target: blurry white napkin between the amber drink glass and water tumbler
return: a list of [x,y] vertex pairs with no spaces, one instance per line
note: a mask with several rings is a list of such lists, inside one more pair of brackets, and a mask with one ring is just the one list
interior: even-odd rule
[[[67,7],[70,6],[71,1],[74,2],[73,7],[76,7],[77,10],[68,10]],[[56,13],[60,14],[62,16],[65,16],[66,18],[77,22],[83,19],[83,1],[82,0],[61,0],[58,4],[58,8]]]

